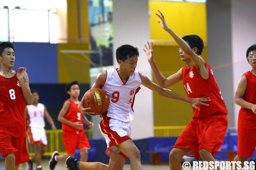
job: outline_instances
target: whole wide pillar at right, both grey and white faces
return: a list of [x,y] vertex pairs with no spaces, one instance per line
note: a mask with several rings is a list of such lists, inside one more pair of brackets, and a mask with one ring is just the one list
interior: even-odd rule
[[223,94],[229,127],[237,127],[234,95],[242,74],[251,70],[246,51],[256,43],[255,0],[207,0],[208,59]]

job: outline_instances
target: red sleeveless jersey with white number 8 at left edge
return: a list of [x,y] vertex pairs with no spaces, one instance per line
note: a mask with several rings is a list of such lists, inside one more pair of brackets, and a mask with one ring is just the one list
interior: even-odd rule
[[25,107],[17,71],[11,78],[0,75],[0,133],[9,133],[17,138],[26,137]]

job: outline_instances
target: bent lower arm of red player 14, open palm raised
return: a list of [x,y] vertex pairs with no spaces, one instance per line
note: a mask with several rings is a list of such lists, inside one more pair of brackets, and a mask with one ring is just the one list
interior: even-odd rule
[[156,78],[157,83],[162,88],[167,88],[171,85],[174,85],[175,83],[182,80],[181,70],[179,70],[177,73],[172,74],[168,78],[165,78],[162,73],[160,72],[159,68],[156,65],[156,62],[154,60],[154,53],[153,53],[153,43],[147,42],[147,45],[144,45],[145,48],[143,49],[145,53],[147,54],[147,60],[150,63],[150,66],[152,68],[153,74]]

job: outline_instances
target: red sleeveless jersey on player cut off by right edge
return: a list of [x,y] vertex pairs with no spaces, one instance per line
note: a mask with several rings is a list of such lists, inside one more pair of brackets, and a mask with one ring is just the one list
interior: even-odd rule
[[[256,104],[256,76],[250,71],[243,74],[246,77],[247,87],[243,99]],[[256,114],[252,110],[242,108],[239,111],[238,126],[245,129],[256,129]]]

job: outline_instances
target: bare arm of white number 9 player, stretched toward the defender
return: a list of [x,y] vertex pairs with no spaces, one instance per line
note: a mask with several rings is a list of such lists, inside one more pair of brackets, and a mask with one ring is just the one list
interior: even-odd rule
[[168,97],[168,98],[171,98],[171,99],[177,99],[177,100],[181,100],[183,102],[187,102],[193,108],[195,108],[197,110],[200,110],[200,108],[198,108],[197,105],[209,106],[208,104],[206,104],[204,102],[211,101],[211,99],[209,97],[206,97],[206,96],[199,97],[199,98],[189,98],[189,97],[182,96],[182,95],[177,94],[177,93],[175,93],[175,92],[173,92],[169,89],[161,88],[159,85],[156,85],[155,83],[153,83],[150,79],[148,79],[146,76],[144,76],[141,73],[140,73],[140,76],[141,76],[141,79],[142,79],[142,85],[149,88],[150,90],[153,90],[156,93],[158,93],[159,95],[164,96],[164,97]]

